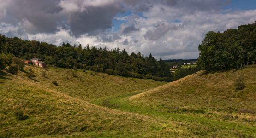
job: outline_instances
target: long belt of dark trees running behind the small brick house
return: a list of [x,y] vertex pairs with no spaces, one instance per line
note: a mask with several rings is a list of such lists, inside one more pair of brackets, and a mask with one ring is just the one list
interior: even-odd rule
[[[0,35],[0,54],[12,54],[13,57],[31,59],[34,56],[48,65],[71,69],[90,69],[110,75],[150,78],[158,81],[173,81],[169,66],[157,61],[151,54],[143,56],[140,52],[128,52],[119,48],[107,49],[95,46],[82,47],[63,43],[55,46],[36,40],[21,40]],[[0,65],[2,59],[0,59]]]

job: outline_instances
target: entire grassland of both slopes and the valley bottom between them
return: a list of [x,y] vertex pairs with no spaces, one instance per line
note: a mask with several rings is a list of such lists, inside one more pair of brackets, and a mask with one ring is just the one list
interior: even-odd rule
[[[1,72],[0,137],[256,138],[255,72],[201,71],[171,83],[60,68]],[[233,86],[238,75],[244,90]]]

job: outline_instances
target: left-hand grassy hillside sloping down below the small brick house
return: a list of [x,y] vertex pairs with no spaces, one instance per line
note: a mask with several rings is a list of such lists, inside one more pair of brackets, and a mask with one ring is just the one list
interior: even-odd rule
[[[26,67],[25,71],[28,68],[36,74],[34,80],[22,72],[16,77],[3,72],[0,75],[0,137],[142,137],[163,133],[155,130],[161,125],[155,119],[86,101],[117,92],[149,89],[165,82],[100,73],[93,76],[91,72],[77,72],[77,77],[73,77],[69,69],[54,68],[46,71],[44,78],[42,69]],[[59,86],[54,86],[53,80],[58,80]],[[29,118],[16,119],[17,111],[23,111]]]

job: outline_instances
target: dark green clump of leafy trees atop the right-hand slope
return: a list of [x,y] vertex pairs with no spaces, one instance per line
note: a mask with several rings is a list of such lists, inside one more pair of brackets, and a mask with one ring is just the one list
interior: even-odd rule
[[228,29],[210,31],[199,45],[198,64],[205,70],[244,68],[256,63],[256,22]]

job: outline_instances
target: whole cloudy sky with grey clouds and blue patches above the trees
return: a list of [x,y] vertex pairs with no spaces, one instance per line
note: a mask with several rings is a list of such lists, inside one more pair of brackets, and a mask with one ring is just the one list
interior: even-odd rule
[[157,59],[198,57],[210,31],[254,23],[256,0],[0,0],[0,34]]

